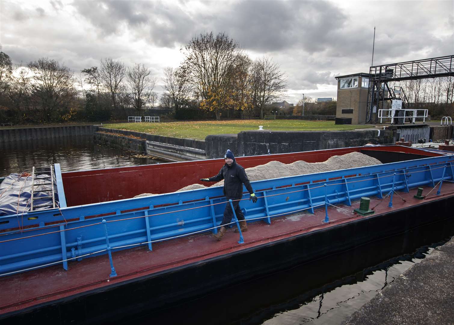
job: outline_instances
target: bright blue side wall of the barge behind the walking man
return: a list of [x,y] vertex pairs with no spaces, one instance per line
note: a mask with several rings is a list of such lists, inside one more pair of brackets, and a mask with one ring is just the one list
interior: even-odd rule
[[[337,203],[351,205],[362,196],[384,198],[396,190],[441,186],[442,180],[454,180],[453,159],[454,155],[446,155],[255,181],[252,186],[259,199],[256,204],[242,201],[242,210],[247,220],[271,223],[273,216],[313,213],[315,208]],[[110,248],[141,244],[152,250],[152,242],[216,232],[225,204],[229,203],[222,187],[209,187],[4,216],[0,218],[0,275],[57,263],[67,270],[68,260],[108,254]],[[110,262],[115,275],[112,258]]]

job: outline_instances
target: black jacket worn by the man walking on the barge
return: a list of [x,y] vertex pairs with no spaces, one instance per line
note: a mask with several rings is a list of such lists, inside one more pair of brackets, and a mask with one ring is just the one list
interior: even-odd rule
[[254,193],[251,183],[247,178],[246,171],[242,165],[238,165],[236,160],[233,160],[232,165],[223,165],[216,176],[210,177],[210,181],[224,180],[224,195],[227,197],[241,198],[243,196],[243,184],[249,191],[249,194]]

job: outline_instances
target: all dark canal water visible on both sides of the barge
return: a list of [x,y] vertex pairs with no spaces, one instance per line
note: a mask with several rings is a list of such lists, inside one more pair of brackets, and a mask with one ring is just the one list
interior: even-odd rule
[[[0,150],[0,177],[54,163],[62,171],[74,171],[163,162],[97,145],[91,135],[0,143]],[[453,235],[452,219],[449,226],[411,230],[168,309],[130,315],[128,324],[341,324],[448,240]]]

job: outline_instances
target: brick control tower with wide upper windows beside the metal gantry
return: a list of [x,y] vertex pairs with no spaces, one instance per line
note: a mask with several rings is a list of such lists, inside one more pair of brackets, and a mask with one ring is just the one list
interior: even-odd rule
[[368,73],[356,73],[336,77],[336,117],[351,118],[351,124],[365,122],[369,76]]

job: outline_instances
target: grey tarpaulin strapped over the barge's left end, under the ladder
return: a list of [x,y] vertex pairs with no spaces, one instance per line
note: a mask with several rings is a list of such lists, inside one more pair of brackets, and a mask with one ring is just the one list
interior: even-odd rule
[[[50,183],[50,175],[35,177],[35,184]],[[57,187],[55,186],[54,189]],[[51,185],[35,186],[36,190],[50,190],[49,192],[35,192],[33,195],[33,210],[52,208],[52,198],[42,198],[52,195]],[[10,174],[0,184],[0,216],[15,215],[30,210],[32,192],[32,176],[30,174]],[[40,199],[41,198],[41,199]],[[55,193],[55,206],[58,205],[58,195]]]

